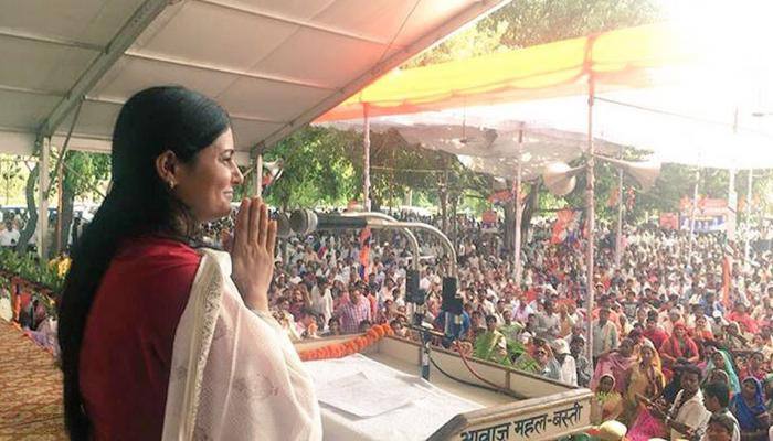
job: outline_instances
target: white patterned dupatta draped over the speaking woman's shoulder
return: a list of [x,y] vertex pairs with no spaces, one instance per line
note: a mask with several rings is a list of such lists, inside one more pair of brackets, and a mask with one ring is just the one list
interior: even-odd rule
[[314,385],[289,338],[246,308],[231,257],[202,250],[174,334],[163,441],[321,438]]

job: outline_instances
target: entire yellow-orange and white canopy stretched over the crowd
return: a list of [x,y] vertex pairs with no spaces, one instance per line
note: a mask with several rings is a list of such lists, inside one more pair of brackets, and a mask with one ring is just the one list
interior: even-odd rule
[[[702,24],[638,26],[396,71],[318,121],[361,119],[367,104],[375,127],[393,123],[410,138],[419,126],[443,126],[455,133],[444,147],[427,135],[438,129],[424,127],[421,142],[488,158],[477,160],[486,170],[496,169],[491,158],[498,154],[511,162],[502,166],[510,170],[517,148],[513,127],[532,136],[553,130],[573,142],[573,153],[555,140],[533,143],[531,158],[538,162],[581,154],[592,79],[593,136],[602,151],[627,146],[650,151],[661,162],[773,168],[773,62],[764,47],[770,26],[749,22],[748,32],[728,35],[716,32],[719,23]],[[464,136],[455,127],[496,130],[499,149],[490,149],[496,142],[485,152],[468,144],[458,149]]]

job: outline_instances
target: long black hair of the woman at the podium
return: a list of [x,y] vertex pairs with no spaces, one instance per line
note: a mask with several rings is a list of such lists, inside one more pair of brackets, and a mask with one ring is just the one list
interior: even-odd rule
[[191,163],[230,126],[215,101],[183,87],[141,90],[121,108],[113,132],[113,186],[73,252],[59,304],[64,416],[71,439],[86,440],[89,434],[78,357],[88,311],[118,245],[150,233],[189,237],[195,228],[190,211],[158,175],[156,159],[171,150],[182,163]]

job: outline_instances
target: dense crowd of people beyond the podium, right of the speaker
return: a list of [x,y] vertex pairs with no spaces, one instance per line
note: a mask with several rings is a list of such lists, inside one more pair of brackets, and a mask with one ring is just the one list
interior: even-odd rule
[[[462,324],[449,329],[462,351],[592,388],[593,422],[622,421],[633,440],[722,439],[708,432],[719,437],[728,419],[728,439],[767,439],[770,254],[752,250],[744,261],[742,246],[722,235],[697,235],[690,244],[685,233],[642,225],[626,229],[615,265],[614,235],[602,227],[592,281],[597,304],[587,311],[581,235],[555,245],[548,223],[534,225],[522,251],[522,280],[516,283],[501,237],[480,232],[474,219],[459,218],[464,312]],[[444,330],[448,256],[428,236],[420,236],[420,244],[424,320]],[[405,292],[413,256],[400,233],[320,233],[293,237],[279,248],[269,299],[290,338],[357,333],[373,323],[417,338],[407,326],[414,310]]]

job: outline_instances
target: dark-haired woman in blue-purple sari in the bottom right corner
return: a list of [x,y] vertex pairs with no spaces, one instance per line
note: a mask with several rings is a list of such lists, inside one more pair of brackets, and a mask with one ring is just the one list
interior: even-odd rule
[[770,427],[767,411],[762,396],[762,384],[754,377],[748,377],[741,386],[741,394],[730,400],[730,411],[738,419],[741,440],[762,441],[767,439]]

